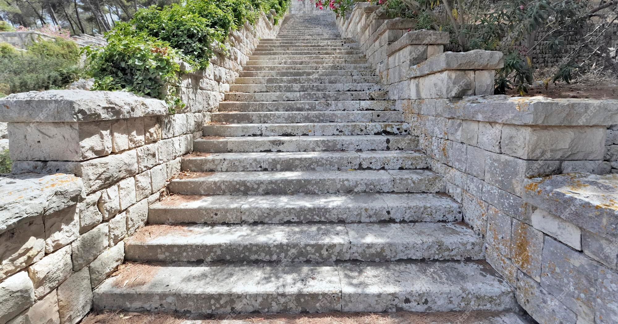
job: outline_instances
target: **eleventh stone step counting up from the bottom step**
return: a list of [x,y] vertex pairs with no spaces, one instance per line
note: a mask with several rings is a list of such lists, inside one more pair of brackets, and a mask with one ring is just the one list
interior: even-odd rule
[[348,92],[381,91],[379,83],[279,83],[279,84],[242,84],[230,85],[230,92],[242,93],[282,93],[282,92]]

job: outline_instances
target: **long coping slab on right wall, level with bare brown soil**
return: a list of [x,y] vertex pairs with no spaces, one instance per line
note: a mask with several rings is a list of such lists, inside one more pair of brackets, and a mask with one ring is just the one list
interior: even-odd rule
[[[601,126],[618,124],[618,100],[552,99],[544,96],[467,96],[423,100],[435,115],[515,125]],[[435,104],[435,107],[431,107]],[[423,113],[424,114],[424,113]]]

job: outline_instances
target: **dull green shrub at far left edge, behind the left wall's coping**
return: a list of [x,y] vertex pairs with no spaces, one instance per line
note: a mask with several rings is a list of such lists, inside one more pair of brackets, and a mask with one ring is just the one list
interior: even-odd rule
[[0,92],[63,88],[79,79],[78,62],[72,41],[41,41],[23,52],[0,45]]

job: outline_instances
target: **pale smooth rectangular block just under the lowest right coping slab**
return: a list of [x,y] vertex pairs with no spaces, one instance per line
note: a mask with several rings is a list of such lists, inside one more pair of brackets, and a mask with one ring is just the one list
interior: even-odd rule
[[537,209],[532,213],[532,226],[549,234],[575,250],[582,250],[582,230],[558,216]]

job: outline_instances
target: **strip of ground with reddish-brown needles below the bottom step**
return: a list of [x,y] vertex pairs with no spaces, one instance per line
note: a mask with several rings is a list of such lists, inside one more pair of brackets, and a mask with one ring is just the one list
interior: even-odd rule
[[[509,315],[515,316],[515,315]],[[513,317],[509,317],[512,320]],[[491,312],[445,313],[319,313],[279,315],[237,315],[195,319],[179,315],[104,312],[91,313],[82,324],[472,324],[515,323]]]

